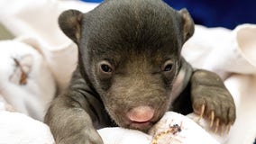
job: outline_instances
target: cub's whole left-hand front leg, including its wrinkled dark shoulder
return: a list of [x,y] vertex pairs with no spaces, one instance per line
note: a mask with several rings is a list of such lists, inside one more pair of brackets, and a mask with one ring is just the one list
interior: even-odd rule
[[45,122],[57,144],[103,144],[94,124],[106,121],[104,112],[77,70],[68,90],[50,104]]

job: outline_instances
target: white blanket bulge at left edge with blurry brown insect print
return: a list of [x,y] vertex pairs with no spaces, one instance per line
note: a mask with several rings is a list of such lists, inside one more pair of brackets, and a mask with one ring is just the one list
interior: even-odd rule
[[2,102],[12,105],[17,112],[42,120],[55,92],[54,78],[38,51],[16,40],[0,41]]

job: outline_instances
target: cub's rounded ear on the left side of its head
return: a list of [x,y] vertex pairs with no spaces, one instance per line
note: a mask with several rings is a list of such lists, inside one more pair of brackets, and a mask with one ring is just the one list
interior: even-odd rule
[[81,36],[82,15],[77,10],[64,11],[59,15],[60,29],[76,43],[78,43]]

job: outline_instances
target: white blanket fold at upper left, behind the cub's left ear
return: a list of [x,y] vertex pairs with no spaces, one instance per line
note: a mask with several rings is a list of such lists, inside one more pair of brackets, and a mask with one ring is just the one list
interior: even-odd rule
[[77,47],[59,29],[58,16],[67,9],[87,12],[97,4],[82,1],[0,1],[0,23],[24,43],[31,45],[48,63],[62,91],[77,65]]

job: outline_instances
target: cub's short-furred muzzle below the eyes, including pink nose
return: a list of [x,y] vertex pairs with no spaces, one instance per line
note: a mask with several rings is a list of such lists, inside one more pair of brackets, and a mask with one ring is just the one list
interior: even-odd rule
[[115,77],[104,96],[105,107],[117,125],[147,131],[168,110],[169,93],[160,75],[137,71],[128,74]]

